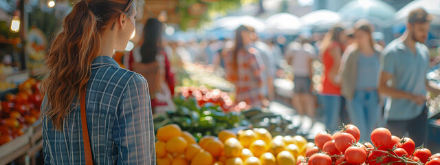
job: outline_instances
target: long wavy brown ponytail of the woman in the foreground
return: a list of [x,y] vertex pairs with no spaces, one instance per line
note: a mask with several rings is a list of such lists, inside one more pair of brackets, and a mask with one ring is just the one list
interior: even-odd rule
[[130,1],[82,0],[65,17],[61,33],[46,53],[47,78],[43,81],[48,101],[43,116],[51,119],[56,129],[63,129],[70,105],[89,81],[91,62],[100,54],[102,32],[109,26],[113,29],[127,5],[131,6],[124,14],[133,14]]

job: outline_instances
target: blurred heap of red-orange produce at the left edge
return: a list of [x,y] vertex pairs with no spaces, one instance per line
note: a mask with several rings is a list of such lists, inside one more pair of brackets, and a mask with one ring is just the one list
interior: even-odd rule
[[0,105],[0,145],[23,135],[39,118],[43,94],[35,79],[19,85],[17,94],[6,94]]

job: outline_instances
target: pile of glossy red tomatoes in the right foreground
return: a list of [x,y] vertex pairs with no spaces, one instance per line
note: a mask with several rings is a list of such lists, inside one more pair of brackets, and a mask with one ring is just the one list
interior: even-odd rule
[[314,142],[316,146],[309,146],[297,164],[440,164],[440,153],[432,155],[423,145],[416,148],[410,138],[393,136],[385,128],[371,133],[373,144],[360,141],[360,131],[352,124],[333,135],[318,133]]

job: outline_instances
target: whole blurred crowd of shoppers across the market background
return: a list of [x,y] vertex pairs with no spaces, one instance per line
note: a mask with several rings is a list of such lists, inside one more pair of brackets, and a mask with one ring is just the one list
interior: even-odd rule
[[[274,80],[290,78],[294,109],[322,119],[327,130],[350,122],[369,140],[373,129],[387,126],[421,144],[428,127],[426,93],[440,94],[425,76],[430,56],[423,43],[431,19],[421,8],[412,10],[404,34],[388,45],[366,20],[351,27],[335,25],[326,34],[302,33],[285,43],[282,36],[261,39],[248,25],[239,26],[233,39],[166,41],[162,23],[149,19],[143,40],[124,65],[148,80],[155,111],[173,107],[174,87],[180,83],[175,77],[184,63],[201,63],[225,70],[225,78],[235,85],[236,102],[268,107],[276,96]],[[322,116],[316,115],[317,108]]]

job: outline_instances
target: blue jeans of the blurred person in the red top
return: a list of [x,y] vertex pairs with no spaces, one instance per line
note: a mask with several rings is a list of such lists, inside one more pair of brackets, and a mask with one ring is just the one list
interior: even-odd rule
[[324,111],[325,126],[330,131],[338,131],[342,96],[322,95],[322,111]]

